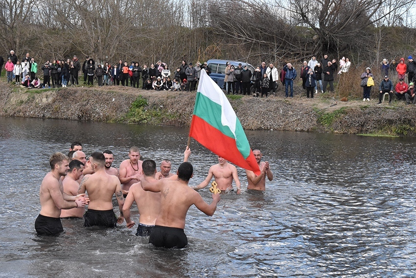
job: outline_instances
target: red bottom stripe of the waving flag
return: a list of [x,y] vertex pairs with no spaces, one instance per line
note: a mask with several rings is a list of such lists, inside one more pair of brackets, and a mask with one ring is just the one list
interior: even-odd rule
[[260,174],[260,169],[258,168],[252,150],[250,150],[250,155],[246,160],[237,149],[235,139],[224,135],[221,131],[209,125],[202,118],[195,115],[192,116],[189,136],[197,140],[214,154],[237,166],[251,170],[256,175]]

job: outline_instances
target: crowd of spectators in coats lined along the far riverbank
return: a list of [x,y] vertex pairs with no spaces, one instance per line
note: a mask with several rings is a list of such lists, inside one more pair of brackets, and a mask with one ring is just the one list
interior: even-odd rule
[[[415,93],[413,93],[413,83],[416,71],[416,61],[412,56],[408,57],[405,63],[404,58],[400,58],[399,63],[395,60],[390,63],[387,59],[381,62],[381,72],[384,79],[379,86],[379,103],[382,96],[389,94],[390,102],[393,95],[397,100],[406,100],[407,104],[413,101],[416,104]],[[209,75],[211,69],[207,63],[192,63],[182,61],[181,65],[175,70],[170,70],[169,66],[162,61],[155,64],[139,65],[139,62],[128,63],[119,60],[115,65],[108,62],[104,64],[96,63],[92,57],[87,56],[84,61],[78,60],[74,55],[72,59],[52,60],[38,65],[29,53],[20,61],[13,50],[4,61],[0,56],[0,76],[1,70],[6,70],[7,82],[21,84],[27,88],[58,88],[83,85],[93,86],[94,82],[100,86],[131,86],[143,90],[155,91],[194,91],[200,78],[201,70],[205,70]],[[342,57],[339,62],[329,59],[327,54],[318,61],[316,56],[307,61],[303,61],[299,70],[302,88],[306,91],[306,96],[313,98],[318,92],[325,93],[329,85],[329,90],[334,92],[334,79],[337,74],[347,73],[351,66],[348,58]],[[389,74],[394,71],[397,73],[399,82],[393,88],[393,83],[389,79]],[[79,76],[81,75],[81,77]],[[251,94],[254,96],[268,96],[275,94],[278,81],[285,87],[285,97],[293,97],[293,82],[298,76],[298,71],[291,63],[285,63],[278,72],[273,63],[266,66],[262,62],[254,72],[248,70],[247,66],[234,67],[227,63],[225,69],[224,90],[230,94]],[[41,80],[42,78],[42,80]],[[79,80],[83,78],[83,80]],[[361,74],[361,87],[363,87],[363,101],[370,100],[371,88],[375,85],[374,76],[371,69],[367,68]],[[409,82],[409,85],[407,82]],[[140,84],[141,83],[141,84]],[[392,83],[392,84],[391,84]]]

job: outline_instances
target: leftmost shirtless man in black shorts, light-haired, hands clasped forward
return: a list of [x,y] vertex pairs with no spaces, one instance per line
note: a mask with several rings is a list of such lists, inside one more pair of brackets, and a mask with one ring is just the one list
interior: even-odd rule
[[49,159],[51,171],[46,174],[39,190],[41,212],[35,221],[36,232],[41,235],[57,236],[64,232],[62,228],[61,209],[84,208],[89,199],[85,194],[69,196],[64,193],[61,177],[68,174],[69,158],[59,152]]

